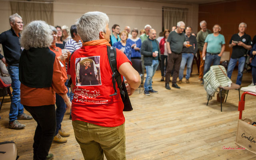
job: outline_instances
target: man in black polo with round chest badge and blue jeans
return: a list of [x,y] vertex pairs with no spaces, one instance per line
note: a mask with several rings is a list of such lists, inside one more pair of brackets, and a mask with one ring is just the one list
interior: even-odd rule
[[252,49],[252,38],[245,33],[246,27],[246,23],[240,23],[238,26],[239,32],[231,37],[228,45],[228,47],[232,48],[232,54],[228,63],[227,74],[228,77],[231,78],[236,62],[238,61],[238,75],[236,78],[236,84],[238,85],[242,83],[246,52]]

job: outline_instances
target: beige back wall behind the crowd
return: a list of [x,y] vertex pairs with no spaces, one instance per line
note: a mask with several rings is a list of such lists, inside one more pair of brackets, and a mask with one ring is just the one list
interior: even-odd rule
[[[150,24],[159,33],[162,30],[162,6],[188,8],[186,26],[198,28],[198,4],[170,4],[136,0],[55,0],[54,25],[70,27],[82,14],[89,11],[100,11],[109,16],[110,30],[113,24],[119,24],[121,30],[126,25],[140,30],[146,24]],[[10,29],[8,21],[10,14],[9,2],[0,1],[0,33]],[[197,31],[194,30],[194,32]]]

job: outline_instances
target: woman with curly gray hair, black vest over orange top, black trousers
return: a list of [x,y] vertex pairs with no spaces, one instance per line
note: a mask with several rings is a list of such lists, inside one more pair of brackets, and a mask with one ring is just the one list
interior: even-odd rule
[[19,78],[20,99],[24,108],[37,122],[34,135],[34,160],[52,159],[48,154],[56,130],[55,92],[64,99],[67,108],[71,102],[62,83],[60,63],[48,46],[52,30],[44,21],[32,21],[22,32]]

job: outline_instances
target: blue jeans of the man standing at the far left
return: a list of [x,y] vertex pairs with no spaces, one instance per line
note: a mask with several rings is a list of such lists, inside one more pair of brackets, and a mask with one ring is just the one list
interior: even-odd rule
[[19,80],[19,67],[8,66],[8,72],[12,79],[12,102],[9,113],[9,120],[13,122],[17,116],[24,111],[23,105],[20,103],[20,80]]

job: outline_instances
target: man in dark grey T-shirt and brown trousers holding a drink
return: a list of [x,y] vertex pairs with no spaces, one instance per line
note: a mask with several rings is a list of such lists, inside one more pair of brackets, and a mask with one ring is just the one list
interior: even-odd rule
[[176,30],[170,32],[167,42],[166,42],[166,48],[168,50],[168,64],[166,68],[166,74],[165,74],[165,88],[170,90],[169,81],[170,81],[170,75],[172,72],[172,68],[174,67],[174,73],[172,76],[172,87],[174,88],[180,88],[176,82],[179,75],[180,70],[180,62],[182,59],[182,48],[183,46],[189,48],[189,41],[186,41],[185,34],[185,23],[180,21],[177,23]]

